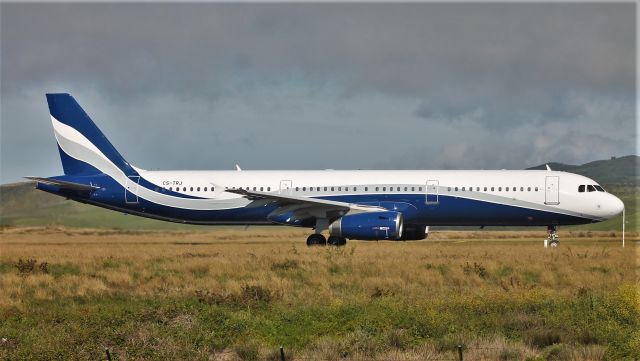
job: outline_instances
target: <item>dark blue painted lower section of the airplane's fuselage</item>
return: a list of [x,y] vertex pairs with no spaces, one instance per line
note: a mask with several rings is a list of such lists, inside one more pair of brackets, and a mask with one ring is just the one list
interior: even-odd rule
[[[72,195],[71,198],[140,216],[197,224],[265,223],[268,222],[267,216],[277,208],[276,205],[267,205],[222,210],[193,210],[159,205],[143,198],[139,198],[138,203],[130,204],[125,203],[124,188],[113,179],[106,176],[104,178],[101,182],[97,182],[101,186],[104,184],[103,190],[93,192],[88,198],[86,193],[78,194],[77,196]],[[153,190],[154,188],[151,189]],[[56,193],[55,189],[43,190]],[[69,196],[69,194],[65,192],[65,196]],[[184,198],[188,197],[190,198],[191,196]],[[536,226],[593,222],[589,218],[446,195],[439,196],[438,204],[425,204],[424,194],[345,194],[316,198],[381,206],[389,210],[394,210],[395,208],[395,210],[403,213],[405,223],[413,224],[437,226]]]

